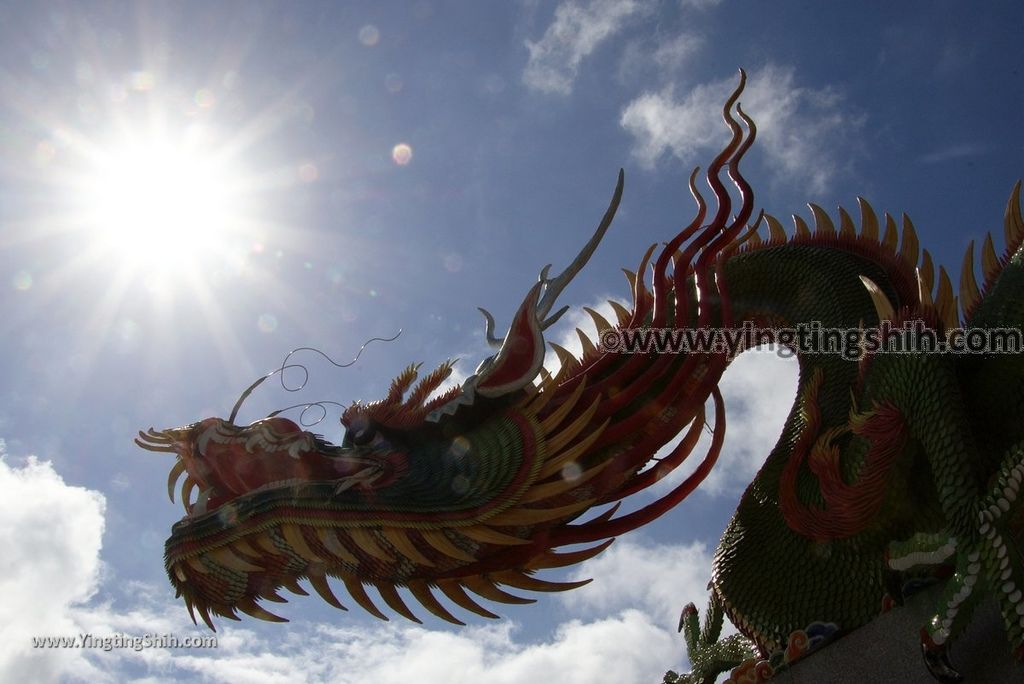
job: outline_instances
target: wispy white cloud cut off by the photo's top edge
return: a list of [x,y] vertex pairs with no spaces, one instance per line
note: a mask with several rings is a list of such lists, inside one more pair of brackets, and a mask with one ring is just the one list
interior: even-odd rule
[[646,7],[645,0],[565,0],[541,40],[526,41],[523,82],[541,92],[569,94],[584,58]]

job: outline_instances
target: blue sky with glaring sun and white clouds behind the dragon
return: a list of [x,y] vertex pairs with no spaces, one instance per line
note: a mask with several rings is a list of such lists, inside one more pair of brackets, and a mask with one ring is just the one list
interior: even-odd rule
[[[138,429],[373,400],[410,362],[487,351],[537,273],[622,208],[549,333],[627,300],[621,268],[689,222],[686,178],[741,98],[776,216],[858,196],[906,212],[957,282],[1024,175],[1018,2],[0,1],[0,680],[660,681],[687,667],[715,544],[778,434],[794,359],[723,380],[725,452],[663,519],[560,579],[583,589],[423,626],[313,597],[218,647],[33,649],[32,637],[199,636],[163,543],[171,460]],[[593,332],[589,323],[585,330]],[[290,386],[301,380],[289,376]],[[341,437],[337,413],[315,429]],[[294,413],[294,412],[293,412]],[[294,415],[293,415],[294,417]],[[659,485],[659,491],[671,482]],[[650,501],[644,495],[628,506]],[[646,498],[644,498],[646,497]],[[275,606],[276,607],[276,606]],[[424,611],[420,611],[424,612]],[[908,638],[913,638],[909,635]]]

